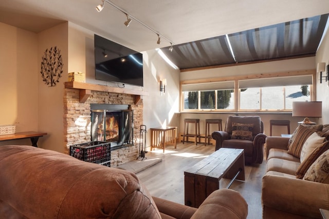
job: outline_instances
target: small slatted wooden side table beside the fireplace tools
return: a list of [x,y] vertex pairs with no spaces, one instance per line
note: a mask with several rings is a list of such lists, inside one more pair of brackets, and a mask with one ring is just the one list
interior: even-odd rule
[[162,148],[165,153],[166,145],[176,144],[177,127],[168,126],[165,128],[151,128],[151,151],[153,148]]

